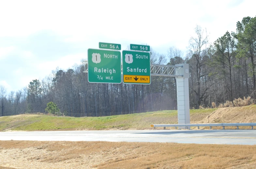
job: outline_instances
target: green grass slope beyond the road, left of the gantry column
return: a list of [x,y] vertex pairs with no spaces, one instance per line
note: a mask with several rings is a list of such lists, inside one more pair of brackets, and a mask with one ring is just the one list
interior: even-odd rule
[[177,110],[106,117],[14,115],[0,117],[0,131],[149,129],[152,123],[177,123]]

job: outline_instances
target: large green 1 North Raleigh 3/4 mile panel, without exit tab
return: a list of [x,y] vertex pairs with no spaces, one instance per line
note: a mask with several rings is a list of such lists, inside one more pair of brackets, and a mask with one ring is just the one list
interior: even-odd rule
[[88,81],[121,83],[121,52],[88,49]]

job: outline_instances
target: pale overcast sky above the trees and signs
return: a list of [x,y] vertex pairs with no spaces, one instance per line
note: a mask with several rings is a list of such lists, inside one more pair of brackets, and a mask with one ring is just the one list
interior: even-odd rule
[[43,79],[58,66],[66,70],[87,58],[98,42],[147,43],[166,54],[186,53],[196,25],[210,42],[236,22],[255,17],[255,0],[0,0],[0,85],[17,91]]

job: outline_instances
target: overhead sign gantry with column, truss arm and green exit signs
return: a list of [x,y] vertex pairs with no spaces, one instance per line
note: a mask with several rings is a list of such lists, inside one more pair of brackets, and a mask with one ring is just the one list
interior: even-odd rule
[[[189,124],[188,64],[150,64],[150,46],[130,44],[130,51],[122,51],[120,44],[99,42],[101,49],[88,49],[84,72],[91,83],[150,84],[152,76],[175,77],[177,86],[178,124]],[[110,49],[110,50],[102,50]],[[123,65],[122,65],[123,64]],[[122,75],[123,73],[123,75]],[[185,128],[185,127],[179,127]],[[189,129],[189,127],[188,127]]]

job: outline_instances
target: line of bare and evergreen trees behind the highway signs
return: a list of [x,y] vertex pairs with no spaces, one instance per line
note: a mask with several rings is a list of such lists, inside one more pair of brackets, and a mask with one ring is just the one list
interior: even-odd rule
[[[169,47],[166,54],[150,50],[153,64],[189,64],[190,107],[212,107],[250,96],[256,99],[256,17],[236,23],[236,32],[223,32],[213,44],[206,29],[197,25],[188,42],[188,52]],[[33,79],[28,86],[7,93],[0,86],[0,115],[45,112],[56,103],[68,116],[105,116],[168,110],[177,107],[176,80],[151,77],[150,85],[89,83],[85,65],[56,69],[51,75]]]

